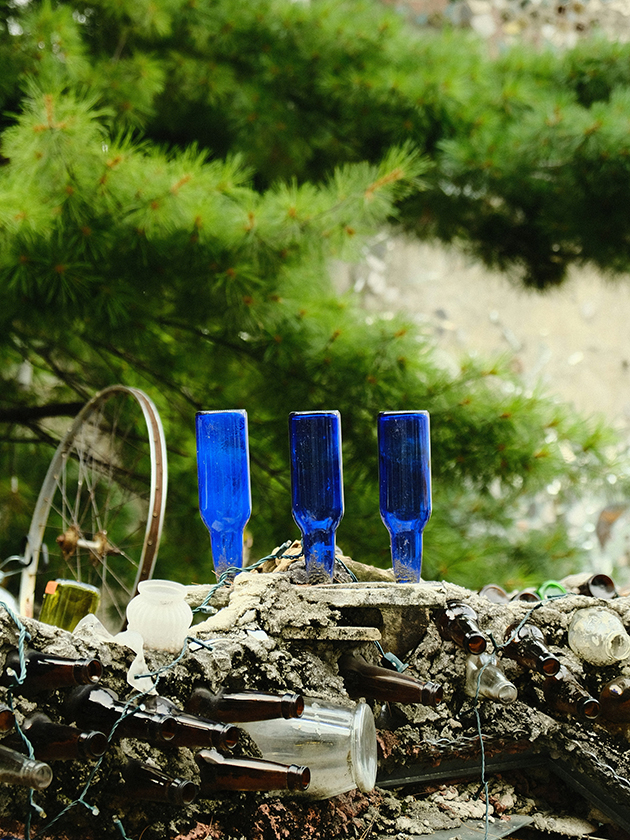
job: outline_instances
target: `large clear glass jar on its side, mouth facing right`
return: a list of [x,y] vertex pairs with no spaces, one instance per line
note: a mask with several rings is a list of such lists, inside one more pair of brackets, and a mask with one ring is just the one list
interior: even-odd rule
[[311,783],[303,796],[327,799],[354,788],[367,793],[376,784],[376,726],[364,701],[348,708],[309,698],[299,718],[238,725],[263,758],[309,768]]

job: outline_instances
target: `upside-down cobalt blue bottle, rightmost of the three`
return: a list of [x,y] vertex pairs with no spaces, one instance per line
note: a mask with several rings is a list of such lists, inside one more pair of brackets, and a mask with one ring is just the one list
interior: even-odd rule
[[431,437],[428,411],[378,416],[381,518],[390,533],[399,583],[417,583],[422,532],[431,516]]

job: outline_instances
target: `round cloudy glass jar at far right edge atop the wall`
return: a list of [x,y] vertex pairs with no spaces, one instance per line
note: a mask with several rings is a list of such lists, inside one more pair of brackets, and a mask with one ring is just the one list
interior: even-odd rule
[[616,613],[586,607],[571,619],[569,647],[592,665],[613,665],[630,656],[630,636]]

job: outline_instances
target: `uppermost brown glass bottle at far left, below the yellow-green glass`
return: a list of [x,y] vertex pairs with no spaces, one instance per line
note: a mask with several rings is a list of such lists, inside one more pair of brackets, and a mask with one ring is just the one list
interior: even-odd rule
[[17,651],[12,651],[7,656],[0,684],[26,696],[72,685],[95,685],[103,673],[98,659],[68,659],[36,650],[26,651],[24,658],[24,682],[17,682],[21,675],[20,657]]

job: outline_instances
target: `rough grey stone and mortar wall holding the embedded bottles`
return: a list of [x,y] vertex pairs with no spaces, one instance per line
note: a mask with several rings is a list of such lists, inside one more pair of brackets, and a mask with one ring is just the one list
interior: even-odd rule
[[[205,591],[201,598],[198,592],[192,597],[201,603],[210,588]],[[566,634],[571,616],[576,609],[592,603],[584,596],[570,595],[532,608],[522,602],[492,604],[448,583],[377,581],[296,586],[286,573],[243,572],[225,588],[224,606],[191,628],[198,641],[190,642],[180,656],[145,651],[158,693],[180,707],[197,685],[213,692],[243,688],[294,691],[323,702],[352,706],[337,671],[337,659],[343,652],[357,652],[378,662],[379,651],[369,640],[370,633],[377,633],[385,650],[408,664],[406,673],[439,682],[445,698],[436,707],[372,702],[379,730],[382,787],[368,794],[354,791],[324,801],[277,793],[227,793],[185,808],[148,803],[125,794],[121,768],[126,760],[149,761],[170,775],[195,780],[193,752],[169,749],[167,745],[158,749],[131,738],[114,739],[98,767],[54,763],[50,788],[33,794],[35,804],[46,814],[33,813],[34,829],[45,831],[49,821],[58,817],[54,823],[56,836],[67,834],[81,840],[119,840],[117,819],[128,836],[142,834],[143,840],[204,836],[200,826],[212,826],[210,836],[221,840],[286,836],[292,840],[327,840],[344,833],[360,836],[368,829],[375,836],[456,830],[463,820],[485,818],[480,787],[481,730],[488,768],[489,814],[492,816],[495,810],[501,818],[536,814],[541,826],[548,826],[551,818],[567,836],[583,833],[589,824],[590,806],[558,780],[546,757],[556,756],[569,772],[571,768],[583,769],[594,783],[607,787],[625,803],[628,793],[616,781],[630,774],[625,729],[606,727],[599,721],[582,724],[547,708],[542,678],[511,660],[500,661],[518,687],[517,701],[506,707],[483,701],[475,708],[464,691],[466,654],[452,642],[442,640],[435,623],[446,600],[453,598],[475,609],[481,629],[497,643],[515,621],[527,619],[537,624],[551,649],[595,695],[603,681],[617,673],[630,674],[628,663],[597,669],[581,662],[568,649]],[[626,622],[630,618],[627,598],[607,605]],[[31,635],[29,644],[37,650],[98,657],[104,665],[103,685],[125,700],[131,696],[127,675],[134,651],[103,637],[93,624],[87,622],[80,632],[71,634],[24,620],[24,629]],[[16,647],[20,632],[5,614],[0,614],[0,630],[4,640],[1,665]],[[64,721],[65,693],[57,690],[38,697],[36,702],[16,694],[13,703],[18,723],[35,708]],[[253,755],[255,749],[251,740],[242,738],[235,752]],[[516,768],[512,776],[510,757]],[[500,778],[492,771],[492,762],[499,759],[508,762]],[[459,768],[459,776],[455,770],[450,778],[440,776],[451,766]],[[417,781],[411,787],[402,782],[390,784],[388,774],[393,772],[402,773],[407,781]],[[462,774],[465,782],[461,781]],[[84,800],[79,803],[76,799],[86,785],[84,797],[90,808],[85,807]],[[66,805],[69,810],[63,813]],[[91,810],[93,807],[98,814]],[[27,808],[26,790],[0,787],[1,825],[23,821]],[[339,826],[343,826],[342,834],[338,834]]]

